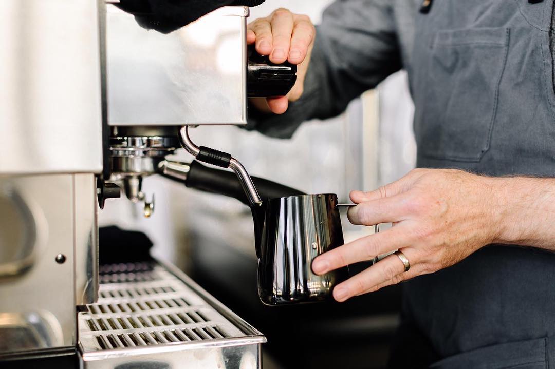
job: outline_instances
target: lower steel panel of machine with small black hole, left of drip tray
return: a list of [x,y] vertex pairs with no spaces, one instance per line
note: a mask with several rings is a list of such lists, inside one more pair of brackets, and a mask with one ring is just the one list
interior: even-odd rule
[[92,174],[0,176],[0,356],[77,343],[97,298]]

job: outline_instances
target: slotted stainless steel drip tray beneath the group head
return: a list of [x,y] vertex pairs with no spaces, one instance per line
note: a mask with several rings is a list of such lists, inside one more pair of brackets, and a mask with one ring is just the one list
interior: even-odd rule
[[265,337],[173,265],[100,266],[97,304],[78,314],[88,369],[260,368]]

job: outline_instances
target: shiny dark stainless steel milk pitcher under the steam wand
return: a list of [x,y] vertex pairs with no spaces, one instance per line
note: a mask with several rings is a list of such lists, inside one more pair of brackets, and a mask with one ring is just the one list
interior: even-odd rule
[[344,244],[336,194],[270,199],[258,262],[258,293],[268,305],[330,299],[346,268],[324,275],[312,272],[312,260]]

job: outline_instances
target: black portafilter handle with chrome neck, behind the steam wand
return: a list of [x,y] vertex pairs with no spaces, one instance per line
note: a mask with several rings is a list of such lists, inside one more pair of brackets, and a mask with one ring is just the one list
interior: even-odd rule
[[[168,164],[166,165],[166,163]],[[173,171],[167,170],[167,168],[171,166],[171,163],[172,162],[162,162],[159,166],[160,174],[175,181],[185,183],[186,187],[233,197],[250,206],[249,199],[247,198],[245,191],[234,172],[209,168],[194,160],[189,164],[188,172],[179,176]],[[181,165],[186,164],[181,163]],[[287,187],[273,181],[268,181],[264,178],[251,178],[256,186],[256,189],[258,189],[260,198],[263,201],[272,198],[304,194],[304,192],[299,191],[298,189]]]

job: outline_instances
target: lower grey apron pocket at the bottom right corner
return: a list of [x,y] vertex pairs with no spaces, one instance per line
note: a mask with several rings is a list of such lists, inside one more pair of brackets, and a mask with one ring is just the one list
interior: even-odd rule
[[433,363],[430,369],[547,369],[547,338],[481,347]]

